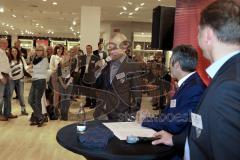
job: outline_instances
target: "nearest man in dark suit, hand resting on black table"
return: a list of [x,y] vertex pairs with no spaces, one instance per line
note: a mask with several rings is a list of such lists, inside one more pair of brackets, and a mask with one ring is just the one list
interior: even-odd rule
[[189,129],[177,136],[160,131],[154,145],[184,148],[185,159],[240,159],[239,17],[235,0],[215,1],[202,11],[199,45],[212,62],[206,70],[212,82],[191,115]]

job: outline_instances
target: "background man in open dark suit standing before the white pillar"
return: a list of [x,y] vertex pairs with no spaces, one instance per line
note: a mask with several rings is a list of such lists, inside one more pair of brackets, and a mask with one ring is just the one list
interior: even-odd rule
[[[99,60],[99,57],[93,55],[91,45],[86,46],[86,51],[87,51],[87,54],[81,56],[80,58],[80,69],[81,69],[80,79],[84,86],[94,88],[95,81],[96,81],[95,63]],[[88,91],[93,92],[91,89]],[[93,97],[86,96],[86,104],[84,105],[84,107],[94,108],[95,106],[96,106],[96,100]]]

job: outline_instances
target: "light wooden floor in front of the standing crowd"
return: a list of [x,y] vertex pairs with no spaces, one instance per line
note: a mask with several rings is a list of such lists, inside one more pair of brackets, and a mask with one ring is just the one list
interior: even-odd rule
[[[25,84],[25,100],[30,84]],[[143,100],[144,108],[150,106],[150,99]],[[27,104],[27,111],[32,110]],[[20,115],[20,107],[12,100],[13,114]],[[85,160],[81,155],[64,149],[56,141],[56,133],[63,126],[73,122],[49,121],[43,127],[29,125],[29,116],[19,116],[7,122],[0,121],[0,160]]]

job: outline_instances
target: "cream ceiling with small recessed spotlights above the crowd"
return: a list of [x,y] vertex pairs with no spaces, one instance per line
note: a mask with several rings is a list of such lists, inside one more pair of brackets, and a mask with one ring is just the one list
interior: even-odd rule
[[[53,2],[58,4],[54,6]],[[142,3],[143,6],[140,5]],[[4,12],[0,12],[0,34],[21,35],[24,32],[23,35],[77,38],[81,6],[100,6],[102,22],[151,22],[152,9],[159,5],[174,7],[176,0],[1,0],[0,7],[4,7]],[[124,11],[123,6],[128,10],[120,15]],[[140,9],[134,11],[136,7]],[[129,12],[133,15],[129,16]],[[74,20],[77,22],[75,26]]]

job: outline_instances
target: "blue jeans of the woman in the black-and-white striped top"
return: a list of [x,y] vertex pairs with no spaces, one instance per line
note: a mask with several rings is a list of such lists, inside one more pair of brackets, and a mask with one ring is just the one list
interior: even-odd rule
[[25,102],[24,102],[24,79],[18,79],[18,80],[11,80],[10,81],[10,95],[12,98],[13,95],[13,91],[15,89],[15,87],[17,88],[17,95],[19,103],[21,105],[21,107],[25,108]]

